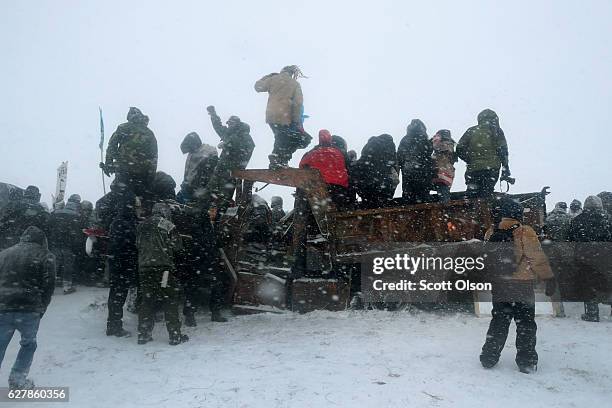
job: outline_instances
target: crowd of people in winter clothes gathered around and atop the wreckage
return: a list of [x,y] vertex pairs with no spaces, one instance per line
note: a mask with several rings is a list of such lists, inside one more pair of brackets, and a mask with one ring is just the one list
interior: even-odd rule
[[[268,156],[271,170],[288,167],[292,155],[306,148],[312,139],[303,127],[303,96],[298,82],[301,77],[297,66],[287,66],[255,83],[257,92],[269,94],[266,122],[274,135],[274,149]],[[123,327],[123,313],[129,293],[135,292],[138,344],[152,340],[157,311],[165,314],[169,344],[188,341],[181,325],[196,325],[195,313],[201,306],[203,289],[210,292],[211,319],[226,321],[222,310],[227,280],[217,228],[232,205],[236,180],[231,172],[248,166],[255,143],[249,125],[238,116],[230,116],[224,124],[214,106],[207,107],[207,112],[220,139],[221,153],[203,143],[197,133],[187,134],[180,145],[186,161],[178,193],[175,180],[157,167],[157,140],[148,127],[149,118],[135,107],[129,109],[127,122],[119,125],[109,140],[106,159],[100,167],[114,180],[110,192],[95,207],[74,194],[65,205],[55,203],[48,212],[40,204],[36,187],[30,186],[24,192],[14,190],[0,214],[0,352],[6,350],[14,330],[22,334],[22,352],[10,376],[11,386],[28,386],[38,322],[51,299],[56,276],[67,295],[75,291],[75,282],[109,287],[108,336],[130,336]],[[359,157],[349,150],[345,139],[329,130],[320,130],[318,136],[318,144],[303,155],[299,167],[319,171],[334,205],[340,209],[356,206],[357,196],[364,208],[391,205],[400,175],[402,203],[447,202],[458,159],[467,164],[467,197],[491,197],[499,180],[513,182],[506,138],[497,114],[490,109],[478,115],[477,124],[458,143],[447,129],[438,130],[430,138],[419,119],[407,126],[397,149],[391,135],[381,134],[368,140]],[[612,240],[609,217],[603,212],[602,200],[611,211],[610,193],[606,194],[587,198],[582,212],[572,203],[573,218],[565,213],[567,206],[559,203],[547,223],[551,239]],[[271,204],[271,220],[277,225],[285,217],[282,199],[275,197]],[[527,241],[533,239],[535,232],[521,225],[520,208],[508,204],[502,206],[500,214],[488,240],[516,241],[521,248],[534,246]],[[84,229],[106,237],[105,248],[95,247],[89,254],[92,256],[87,256]],[[526,252],[526,256],[538,258],[537,248]],[[525,279],[539,276],[550,280],[550,268],[541,268]],[[19,279],[20,283],[15,283]],[[490,367],[497,362],[514,318],[522,325],[525,336],[522,346],[517,343],[523,358],[519,365],[534,366],[537,354],[534,355],[533,307],[529,301],[495,303],[491,333],[483,348],[483,365]],[[596,307],[596,302],[588,303],[586,320],[596,319]]]

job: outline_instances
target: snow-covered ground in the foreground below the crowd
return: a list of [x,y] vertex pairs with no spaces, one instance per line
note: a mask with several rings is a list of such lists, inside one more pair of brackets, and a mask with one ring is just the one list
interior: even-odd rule
[[[55,296],[31,376],[70,387],[71,407],[604,407],[612,406],[612,320],[538,320],[539,371],[478,361],[488,318],[410,312],[254,315],[225,324],[199,316],[191,341],[167,344],[163,324],[145,346],[104,335],[106,290]],[[127,314],[126,327],[135,331]],[[514,329],[512,330],[514,336]],[[0,385],[17,352],[9,346]],[[27,406],[20,404],[19,406]],[[37,403],[35,407],[58,407]]]

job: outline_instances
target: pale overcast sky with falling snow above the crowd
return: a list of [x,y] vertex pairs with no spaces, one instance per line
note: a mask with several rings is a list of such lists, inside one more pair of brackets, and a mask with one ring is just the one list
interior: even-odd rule
[[[483,108],[500,116],[517,184],[550,185],[549,205],[610,177],[609,1],[17,1],[0,3],[0,181],[102,195],[98,106],[107,141],[130,106],[150,117],[159,170],[182,181],[179,144],[216,145],[205,106],[251,125],[249,167],[267,166],[272,133],[262,75],[297,64],[305,128],[396,145],[413,118],[458,140]],[[297,165],[304,151],[298,151]],[[453,190],[463,190],[461,164]],[[107,180],[108,186],[108,180]],[[398,188],[396,195],[401,194]],[[269,187],[267,199],[287,188]]]

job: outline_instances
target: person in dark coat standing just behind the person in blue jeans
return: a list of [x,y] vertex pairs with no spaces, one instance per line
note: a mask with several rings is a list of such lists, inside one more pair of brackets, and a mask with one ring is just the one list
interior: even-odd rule
[[49,247],[55,255],[57,276],[62,280],[65,295],[75,291],[77,256],[85,249],[79,210],[80,203],[69,200],[49,220]]

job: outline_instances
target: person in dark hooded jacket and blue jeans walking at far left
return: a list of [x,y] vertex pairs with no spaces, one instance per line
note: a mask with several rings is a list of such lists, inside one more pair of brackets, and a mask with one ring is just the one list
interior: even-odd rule
[[9,374],[11,389],[31,389],[28,379],[36,335],[55,287],[55,260],[42,230],[30,226],[19,243],[0,252],[0,364],[15,331],[20,350]]

